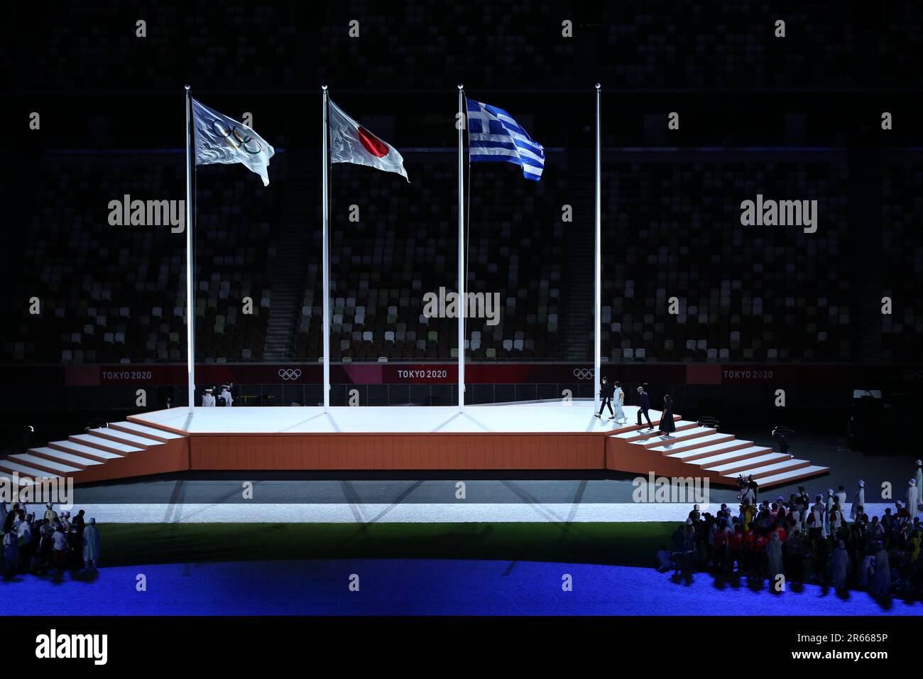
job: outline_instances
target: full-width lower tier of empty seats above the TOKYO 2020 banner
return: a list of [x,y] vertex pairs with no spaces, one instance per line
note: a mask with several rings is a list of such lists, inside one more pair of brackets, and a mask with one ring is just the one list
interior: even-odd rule
[[[572,299],[586,281],[562,275],[569,234],[578,228],[560,217],[562,196],[568,195],[566,155],[554,154],[561,167],[549,167],[538,184],[507,168],[476,167],[472,173],[469,290],[497,292],[502,307],[496,326],[469,321],[466,348],[472,360],[564,358],[568,347],[558,337],[569,323],[587,340],[584,346],[591,346],[591,331]],[[616,155],[609,153],[604,164],[605,358],[855,358],[847,326],[869,271],[854,270],[844,246],[850,207],[842,158],[774,154],[737,160],[712,154],[632,162]],[[408,158],[410,185],[366,168],[337,168],[331,237],[335,360],[457,356],[456,321],[422,314],[423,294],[438,292],[440,285],[454,289],[457,279],[454,162],[447,153]],[[72,155],[55,156],[48,164],[50,179],[25,251],[34,272],[30,279],[41,283],[25,285],[20,279],[17,290],[43,300],[42,332],[33,326],[27,332],[20,322],[24,339],[5,338],[5,361],[185,359],[182,236],[166,228],[111,227],[106,201],[89,198],[99,191],[182,196],[179,158],[150,159],[125,164],[117,156]],[[317,202],[287,184],[287,166],[284,155],[273,160],[276,184],[267,189],[226,168],[214,171],[221,175],[210,175],[211,168],[198,172],[196,313],[202,361],[263,359],[270,318],[277,313],[294,315],[294,321],[282,320],[296,328],[283,336],[281,358],[321,356],[320,240],[311,224],[294,222],[295,231],[313,242],[304,246],[304,258],[294,253],[292,285],[300,291],[290,306],[274,306],[273,290],[286,271],[281,262],[286,215],[292,212],[288,203],[306,203],[314,212]],[[894,299],[893,316],[881,321],[885,341],[879,358],[912,360],[920,331],[915,282],[923,270],[913,224],[923,202],[906,197],[915,195],[911,188],[919,183],[921,165],[904,158],[886,167],[881,238],[869,238],[862,248],[881,249],[887,265],[880,289]],[[758,192],[818,200],[818,233],[764,227],[752,228],[749,236],[748,227],[739,226],[739,200]],[[245,195],[250,199],[237,200]],[[358,223],[347,218],[351,200],[362,206]],[[521,209],[510,211],[506,200]],[[581,244],[584,263],[590,246]],[[711,266],[702,266],[704,261]],[[584,271],[583,278],[587,275]],[[252,297],[252,315],[241,312],[243,297]],[[676,316],[666,312],[669,297],[679,300]],[[584,299],[580,303],[587,306]],[[588,309],[582,310],[585,316]]]

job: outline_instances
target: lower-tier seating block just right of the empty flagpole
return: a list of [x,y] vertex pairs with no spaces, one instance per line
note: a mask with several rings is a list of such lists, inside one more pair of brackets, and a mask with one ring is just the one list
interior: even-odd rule
[[[604,356],[850,358],[845,164],[758,158],[605,164],[605,231],[617,234],[617,254],[604,276]],[[741,226],[740,201],[758,193],[818,200],[818,233]]]

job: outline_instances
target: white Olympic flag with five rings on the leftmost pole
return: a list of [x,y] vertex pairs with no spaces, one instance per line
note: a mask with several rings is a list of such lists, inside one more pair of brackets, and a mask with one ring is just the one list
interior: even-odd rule
[[245,164],[270,185],[268,167],[276,150],[250,127],[227,115],[192,100],[192,119],[196,128],[196,164]]

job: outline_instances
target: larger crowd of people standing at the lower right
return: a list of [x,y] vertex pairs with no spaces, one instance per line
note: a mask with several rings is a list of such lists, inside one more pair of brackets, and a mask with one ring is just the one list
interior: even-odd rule
[[[917,460],[917,476],[921,473]],[[664,545],[657,552],[659,570],[768,578],[775,591],[813,583],[880,598],[923,599],[917,479],[910,479],[907,502],[870,518],[861,480],[848,513],[843,486],[817,494],[813,502],[803,486],[787,499],[761,500],[759,485],[747,479],[738,498],[737,512],[723,503],[712,515],[696,504],[674,531],[672,549]]]

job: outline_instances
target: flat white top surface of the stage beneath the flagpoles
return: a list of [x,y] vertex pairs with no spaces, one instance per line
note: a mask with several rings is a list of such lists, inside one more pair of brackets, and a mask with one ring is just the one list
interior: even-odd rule
[[[319,406],[196,407],[140,413],[133,421],[190,434],[371,434],[371,433],[578,433],[628,430],[638,407],[625,406],[627,424],[593,417],[593,403],[574,401],[465,406]],[[660,419],[659,410],[650,410]],[[646,420],[645,420],[646,423]]]

